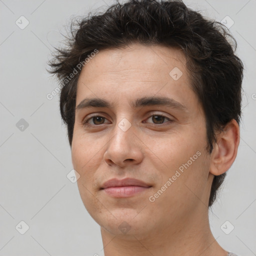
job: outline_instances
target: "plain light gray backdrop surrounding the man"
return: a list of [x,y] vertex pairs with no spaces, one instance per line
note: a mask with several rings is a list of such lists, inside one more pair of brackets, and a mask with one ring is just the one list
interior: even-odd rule
[[[0,255],[103,255],[99,226],[85,210],[76,183],[66,177],[72,169],[70,148],[58,96],[46,98],[57,83],[45,68],[71,17],[113,2],[0,0]],[[210,226],[226,250],[256,255],[256,0],[185,3],[205,16],[221,21],[228,15],[234,22],[230,31],[245,64],[241,138],[209,212]],[[24,29],[15,23],[21,15],[29,21]],[[23,235],[21,220],[29,226]]]

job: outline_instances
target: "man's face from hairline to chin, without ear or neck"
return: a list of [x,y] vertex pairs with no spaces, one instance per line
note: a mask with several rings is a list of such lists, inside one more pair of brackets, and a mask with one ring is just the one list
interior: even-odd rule
[[84,206],[103,230],[146,235],[206,210],[205,146],[204,114],[179,49],[99,50],[82,69],[72,163]]

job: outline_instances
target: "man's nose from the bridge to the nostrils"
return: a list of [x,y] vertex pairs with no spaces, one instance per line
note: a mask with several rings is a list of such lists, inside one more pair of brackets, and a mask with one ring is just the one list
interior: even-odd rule
[[116,164],[125,167],[127,164],[138,164],[143,159],[143,143],[135,134],[135,128],[131,125],[126,129],[125,125],[127,125],[127,121],[120,121],[113,129],[113,135],[108,141],[103,156],[108,165]]

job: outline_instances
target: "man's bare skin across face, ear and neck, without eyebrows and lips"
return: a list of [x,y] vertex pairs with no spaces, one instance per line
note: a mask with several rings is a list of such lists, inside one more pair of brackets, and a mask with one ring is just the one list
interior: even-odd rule
[[[169,75],[174,67],[182,71],[177,80]],[[209,154],[204,113],[190,84],[183,53],[160,45],[133,43],[99,50],[80,73],[76,106],[88,97],[113,105],[76,109],[71,145],[79,193],[100,225],[105,256],[227,255],[210,231],[207,205],[213,176],[225,172],[235,159],[239,127],[231,120]],[[143,96],[172,98],[186,111],[130,105]],[[93,119],[92,114],[104,118]],[[157,121],[156,114],[167,118]],[[126,131],[118,126],[123,118],[131,124]],[[198,151],[200,156],[149,201]],[[151,187],[131,197],[113,198],[100,187],[114,177],[137,178]],[[123,232],[118,228],[121,223],[130,229]]]

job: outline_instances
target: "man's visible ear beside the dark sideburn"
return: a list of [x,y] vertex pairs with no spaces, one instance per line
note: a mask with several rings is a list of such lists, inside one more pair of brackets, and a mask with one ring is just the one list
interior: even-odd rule
[[237,122],[234,119],[228,122],[216,140],[211,152],[209,172],[220,175],[230,168],[237,154],[240,141]]

